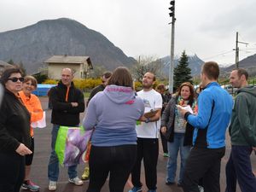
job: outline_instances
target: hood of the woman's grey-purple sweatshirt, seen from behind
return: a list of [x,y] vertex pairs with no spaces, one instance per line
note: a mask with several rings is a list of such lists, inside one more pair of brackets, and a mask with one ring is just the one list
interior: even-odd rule
[[118,85],[108,85],[104,94],[108,96],[108,99],[118,104],[132,104],[135,101],[135,92],[131,87],[123,87]]

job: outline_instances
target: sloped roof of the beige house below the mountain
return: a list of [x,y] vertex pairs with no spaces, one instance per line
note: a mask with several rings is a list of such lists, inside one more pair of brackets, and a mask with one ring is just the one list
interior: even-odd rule
[[89,56],[68,56],[68,55],[53,55],[45,63],[67,63],[67,64],[81,64],[88,63],[90,69],[92,69],[92,63]]

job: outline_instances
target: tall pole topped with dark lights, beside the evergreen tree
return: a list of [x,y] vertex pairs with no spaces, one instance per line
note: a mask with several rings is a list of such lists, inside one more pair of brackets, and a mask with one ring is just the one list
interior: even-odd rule
[[169,68],[169,92],[173,93],[173,71],[174,71],[174,32],[175,32],[175,0],[170,2],[171,7],[169,8],[171,13],[169,13],[170,17],[172,17],[172,33],[171,33],[171,61]]

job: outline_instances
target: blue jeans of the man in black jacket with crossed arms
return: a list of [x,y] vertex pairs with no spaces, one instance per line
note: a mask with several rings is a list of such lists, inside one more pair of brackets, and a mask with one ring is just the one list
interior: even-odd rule
[[[60,125],[53,125],[51,131],[51,153],[49,156],[49,164],[48,164],[48,178],[50,181],[57,181],[59,177],[59,160],[57,154],[55,153],[55,143],[58,135],[58,131],[60,129]],[[77,165],[76,166],[68,166],[67,173],[69,178],[74,178],[78,176],[77,173]]]

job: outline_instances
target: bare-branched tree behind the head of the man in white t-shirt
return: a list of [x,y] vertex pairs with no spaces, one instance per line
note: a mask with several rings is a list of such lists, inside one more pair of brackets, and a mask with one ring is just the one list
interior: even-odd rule
[[151,72],[157,78],[162,77],[162,63],[154,56],[139,56],[137,62],[131,67],[131,73],[138,82],[143,82],[145,73]]

